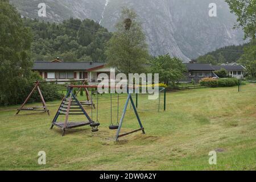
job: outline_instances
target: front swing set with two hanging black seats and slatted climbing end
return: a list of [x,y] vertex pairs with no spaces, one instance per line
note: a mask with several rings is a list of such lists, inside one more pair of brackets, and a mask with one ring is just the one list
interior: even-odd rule
[[[53,118],[52,125],[51,125],[51,129],[53,128],[53,126],[59,127],[63,131],[63,134],[62,134],[63,136],[65,134],[65,130],[71,129],[74,127],[81,127],[81,126],[89,125],[90,127],[92,127],[92,132],[96,132],[96,131],[98,131],[98,126],[100,126],[100,122],[98,121],[98,93],[96,96],[97,97],[96,98],[97,99],[96,121],[93,121],[93,110],[91,109],[91,117],[89,117],[88,113],[86,113],[86,111],[82,107],[81,102],[79,102],[79,100],[77,100],[77,98],[76,98],[76,95],[73,94],[74,88],[94,89],[94,88],[97,88],[97,85],[69,85],[68,86],[68,93],[61,101],[59,109],[57,110],[57,113],[55,114],[55,117]],[[91,98],[92,97],[93,97],[93,94],[91,94]],[[138,99],[138,97],[136,97],[136,100],[137,99]],[[127,110],[127,106],[129,105],[129,102],[130,102],[131,106],[133,107],[135,116],[136,116],[138,124],[139,124],[139,128],[129,131],[127,133],[120,134],[123,119],[125,118],[125,114],[126,114],[126,110]],[[164,90],[164,103],[166,103],[165,90]],[[118,138],[120,138],[120,137],[124,137],[126,135],[135,133],[137,131],[142,131],[142,133],[145,134],[144,127],[142,125],[141,119],[139,118],[139,114],[137,111],[137,104],[138,104],[137,101],[136,101],[136,105],[134,104],[134,101],[133,101],[133,98],[131,96],[130,89],[129,89],[128,96],[127,96],[127,99],[125,102],[125,106],[123,108],[122,115],[119,120],[119,94],[118,94],[117,95],[117,122],[114,123],[113,118],[112,118],[112,115],[113,115],[113,113],[112,113],[112,94],[110,93],[110,125],[109,125],[109,129],[117,130],[117,133],[115,134],[115,141],[117,141]],[[166,109],[166,106],[164,105],[164,110],[165,109]],[[73,115],[73,114],[85,115],[86,121],[76,121],[76,122],[69,121],[69,115]],[[59,115],[65,115],[64,122],[57,122]]]

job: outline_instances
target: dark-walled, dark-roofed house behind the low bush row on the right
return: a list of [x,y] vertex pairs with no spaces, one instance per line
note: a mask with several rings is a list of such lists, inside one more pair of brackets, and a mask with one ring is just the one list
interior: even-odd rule
[[243,78],[245,67],[242,65],[211,65],[199,63],[185,63],[188,72],[184,74],[184,78],[180,82],[199,82],[204,77],[218,77],[214,71],[226,69],[228,75],[236,78]]

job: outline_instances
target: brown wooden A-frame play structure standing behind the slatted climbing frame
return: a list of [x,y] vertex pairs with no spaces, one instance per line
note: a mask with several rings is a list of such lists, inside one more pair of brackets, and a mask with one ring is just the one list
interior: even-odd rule
[[[40,90],[40,84],[43,83],[57,83],[57,82],[82,82],[82,85],[86,84],[86,80],[71,80],[71,81],[35,81],[35,86],[34,88],[31,90],[30,94],[28,94],[26,100],[23,102],[23,104],[19,107],[19,109],[17,109],[18,111],[16,112],[16,114],[19,114],[19,112],[21,110],[29,110],[29,111],[44,111],[47,112],[47,114],[49,115],[49,110],[47,109],[46,106],[46,102],[44,101],[44,97],[43,94]],[[36,90],[38,90],[38,93],[40,95],[40,99],[42,101],[43,106],[34,106],[34,107],[24,107],[27,103],[27,101],[30,99],[30,97],[32,96],[32,93],[34,93]],[[76,93],[76,95],[81,91],[81,89],[79,89],[79,91]],[[86,93],[86,101],[81,101],[82,105],[89,105],[89,106],[93,106],[95,109],[95,106],[93,104],[92,99],[89,96],[89,92],[88,89],[85,88],[85,93]]]

